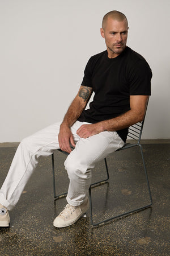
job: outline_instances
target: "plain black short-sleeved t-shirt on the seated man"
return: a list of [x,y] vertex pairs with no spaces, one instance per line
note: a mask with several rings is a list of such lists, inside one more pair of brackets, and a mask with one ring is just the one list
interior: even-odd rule
[[[78,121],[96,123],[130,110],[130,95],[151,95],[151,69],[146,60],[129,47],[113,59],[108,52],[94,55],[84,70],[83,86],[95,92],[90,108]],[[126,141],[128,128],[117,133]]]

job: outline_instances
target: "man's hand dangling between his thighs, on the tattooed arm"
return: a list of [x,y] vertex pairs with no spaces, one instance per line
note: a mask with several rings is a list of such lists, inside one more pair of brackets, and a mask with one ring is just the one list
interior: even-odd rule
[[59,147],[61,148],[61,150],[65,151],[69,154],[71,152],[70,142],[71,142],[71,145],[75,147],[73,134],[71,133],[70,128],[63,123],[59,129],[58,142],[59,142]]

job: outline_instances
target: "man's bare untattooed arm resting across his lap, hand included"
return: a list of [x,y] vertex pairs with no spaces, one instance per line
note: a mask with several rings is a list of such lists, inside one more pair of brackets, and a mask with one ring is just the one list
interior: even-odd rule
[[81,138],[88,138],[101,131],[117,131],[125,129],[134,123],[141,122],[145,116],[148,96],[130,96],[130,110],[116,118],[101,121],[93,125],[82,125],[77,134]]

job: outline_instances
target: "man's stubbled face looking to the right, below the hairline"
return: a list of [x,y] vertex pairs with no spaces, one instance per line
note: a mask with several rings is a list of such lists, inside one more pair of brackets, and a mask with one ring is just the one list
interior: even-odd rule
[[126,20],[120,22],[108,18],[100,32],[101,36],[105,39],[109,58],[117,57],[124,51],[128,38],[128,24]]

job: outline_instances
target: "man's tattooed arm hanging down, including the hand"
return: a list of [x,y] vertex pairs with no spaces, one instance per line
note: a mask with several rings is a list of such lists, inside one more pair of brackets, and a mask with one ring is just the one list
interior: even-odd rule
[[69,106],[65,117],[61,123],[58,142],[61,150],[68,153],[71,152],[70,142],[75,147],[73,134],[71,133],[70,127],[78,119],[82,111],[86,108],[87,102],[92,94],[92,88],[87,86],[80,86],[79,92],[74,98],[73,102]]

